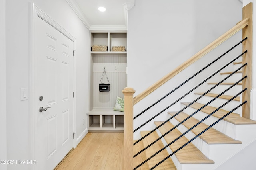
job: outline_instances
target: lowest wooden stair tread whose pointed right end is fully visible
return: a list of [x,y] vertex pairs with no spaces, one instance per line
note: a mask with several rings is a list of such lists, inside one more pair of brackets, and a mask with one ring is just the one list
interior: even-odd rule
[[[163,121],[155,121],[156,126],[159,126],[162,124]],[[172,129],[174,125],[170,123],[169,121],[162,125],[159,128],[159,131],[163,135],[170,129]],[[170,133],[164,136],[164,139],[167,143],[171,143],[174,139],[182,135],[178,129],[174,129]],[[184,145],[186,142],[188,142],[188,139],[183,136],[177,141],[175,141],[173,144],[170,145],[170,149],[174,152],[178,148],[180,148],[182,145]],[[189,143],[184,148],[180,149],[175,154],[176,158],[179,160],[181,164],[213,164],[214,161],[208,159],[200,150],[198,150],[192,143]]]

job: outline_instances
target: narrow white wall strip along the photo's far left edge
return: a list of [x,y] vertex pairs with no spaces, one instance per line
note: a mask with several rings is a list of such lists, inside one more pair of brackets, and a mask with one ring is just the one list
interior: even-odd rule
[[[0,160],[7,160],[5,63],[5,0],[0,0]],[[0,164],[0,169],[6,170],[7,166]]]

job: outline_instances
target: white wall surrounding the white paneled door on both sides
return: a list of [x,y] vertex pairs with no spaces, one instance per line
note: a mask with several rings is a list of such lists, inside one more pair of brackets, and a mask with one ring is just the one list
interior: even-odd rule
[[[30,160],[30,100],[20,101],[20,88],[30,84],[30,13],[35,3],[54,21],[76,37],[77,127],[79,137],[85,130],[88,112],[88,29],[65,0],[6,1],[6,86],[7,86],[7,159]],[[84,134],[85,135],[85,134]],[[8,169],[30,169],[31,166],[9,165]]]

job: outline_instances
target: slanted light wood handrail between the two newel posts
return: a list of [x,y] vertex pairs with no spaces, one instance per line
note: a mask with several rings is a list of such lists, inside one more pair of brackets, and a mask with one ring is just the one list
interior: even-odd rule
[[192,63],[212,51],[214,48],[218,47],[221,43],[226,41],[229,37],[243,29],[248,25],[249,18],[246,18],[242,21],[240,21],[237,25],[232,27],[230,30],[228,30],[226,33],[218,37],[216,40],[214,40],[212,43],[204,47],[202,50],[200,50],[198,53],[193,55],[190,59],[182,63],[180,66],[178,66],[176,69],[172,70],[170,73],[168,73],[166,76],[158,80],[156,83],[152,84],[149,88],[138,94],[136,97],[134,97],[134,104],[138,103],[140,100],[142,100],[144,97],[148,96],[151,92],[156,90],[158,87],[162,86],[162,84],[166,83],[168,80],[170,80],[172,77],[176,76],[179,72],[190,66]]

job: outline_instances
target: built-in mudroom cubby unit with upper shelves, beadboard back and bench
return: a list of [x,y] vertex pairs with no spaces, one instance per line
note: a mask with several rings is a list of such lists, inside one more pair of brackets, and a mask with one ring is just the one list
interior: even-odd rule
[[[91,51],[92,45],[107,45],[108,48],[107,51]],[[125,51],[123,48],[120,48],[122,51],[111,51],[113,46],[125,47]],[[124,113],[113,111],[113,108],[117,96],[124,98],[122,90],[127,86],[126,58],[126,31],[90,31],[89,113],[87,114],[89,131],[124,130]],[[109,92],[99,92],[104,69],[110,82]],[[103,76],[102,83],[106,82]],[[99,117],[96,119],[93,116]]]

